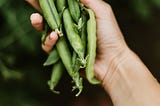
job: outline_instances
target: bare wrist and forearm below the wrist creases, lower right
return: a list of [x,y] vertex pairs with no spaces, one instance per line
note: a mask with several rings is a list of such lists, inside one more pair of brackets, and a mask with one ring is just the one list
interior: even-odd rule
[[159,84],[130,49],[112,59],[107,71],[102,84],[114,105],[146,106],[151,98],[155,103],[159,102]]

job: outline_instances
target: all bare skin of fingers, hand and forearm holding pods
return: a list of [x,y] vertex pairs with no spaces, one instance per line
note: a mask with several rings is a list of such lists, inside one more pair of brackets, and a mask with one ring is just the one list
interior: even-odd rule
[[[27,1],[32,3],[31,1],[35,0]],[[139,57],[127,46],[110,5],[102,0],[80,1],[96,15],[97,55],[94,72],[113,105],[159,106],[160,85]],[[42,25],[39,19],[40,17],[37,18],[37,23]],[[31,23],[32,20],[31,17]],[[41,30],[37,25],[32,25]],[[45,41],[50,46],[43,46],[44,51],[49,53],[56,42],[55,38]]]

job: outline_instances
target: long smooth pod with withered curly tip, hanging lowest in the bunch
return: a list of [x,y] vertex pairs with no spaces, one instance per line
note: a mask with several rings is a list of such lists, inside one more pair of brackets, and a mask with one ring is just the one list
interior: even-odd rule
[[60,37],[56,43],[57,51],[59,53],[59,56],[68,72],[68,74],[71,76],[73,83],[75,83],[75,86],[73,86],[73,89],[78,89],[79,92],[76,94],[78,96],[83,89],[82,85],[82,78],[80,78],[78,72],[74,72],[72,69],[72,57],[71,52],[69,50],[69,46],[64,38],[64,36]]

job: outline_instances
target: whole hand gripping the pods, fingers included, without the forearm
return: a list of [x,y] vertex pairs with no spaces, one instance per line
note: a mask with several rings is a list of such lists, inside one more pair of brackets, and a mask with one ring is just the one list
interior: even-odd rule
[[[39,11],[40,7],[37,0],[27,0]],[[103,82],[106,73],[113,73],[112,61],[120,58],[122,52],[128,50],[122,33],[116,22],[114,14],[109,4],[102,0],[80,0],[86,7],[92,9],[97,21],[97,56],[95,61],[95,76]],[[30,17],[32,25],[39,31],[43,29],[43,18],[38,13]],[[51,32],[46,38],[45,45],[42,48],[49,53],[55,45],[58,36]],[[112,75],[108,76],[111,77]]]

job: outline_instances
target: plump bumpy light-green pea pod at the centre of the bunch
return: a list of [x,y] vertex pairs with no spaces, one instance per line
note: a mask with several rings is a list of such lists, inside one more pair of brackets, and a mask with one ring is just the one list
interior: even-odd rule
[[63,22],[64,22],[64,28],[66,31],[67,38],[72,48],[74,49],[74,51],[78,54],[79,61],[83,66],[85,66],[86,60],[84,59],[84,53],[83,53],[84,46],[80,36],[75,31],[75,26],[68,9],[65,9],[63,12]]

